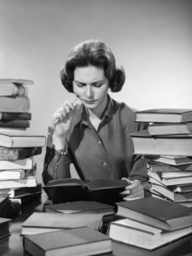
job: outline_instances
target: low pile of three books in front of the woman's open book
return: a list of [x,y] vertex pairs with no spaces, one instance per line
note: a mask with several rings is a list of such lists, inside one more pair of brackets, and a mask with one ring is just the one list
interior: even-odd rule
[[114,207],[97,201],[49,205],[22,224],[24,250],[34,256],[109,253],[112,242],[101,231],[101,224],[103,218],[112,219],[113,215]]

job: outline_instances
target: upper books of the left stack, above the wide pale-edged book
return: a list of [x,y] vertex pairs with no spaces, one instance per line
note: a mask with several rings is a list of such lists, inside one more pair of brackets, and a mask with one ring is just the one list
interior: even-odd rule
[[32,80],[0,79],[0,127],[26,129],[32,113],[28,97],[28,85]]

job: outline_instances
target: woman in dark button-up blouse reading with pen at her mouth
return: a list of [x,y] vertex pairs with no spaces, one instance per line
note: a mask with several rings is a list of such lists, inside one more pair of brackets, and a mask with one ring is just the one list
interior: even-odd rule
[[131,108],[108,95],[108,90],[121,90],[124,82],[123,68],[116,67],[111,49],[102,41],[85,41],[71,50],[61,69],[61,83],[79,100],[64,102],[52,116],[45,184],[70,177],[73,163],[84,181],[124,178],[127,187],[122,197],[143,197],[146,165],[142,157],[133,155],[130,137],[143,127],[134,122]]

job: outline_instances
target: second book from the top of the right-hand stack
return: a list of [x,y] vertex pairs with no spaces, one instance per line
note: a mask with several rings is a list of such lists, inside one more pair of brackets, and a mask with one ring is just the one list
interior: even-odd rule
[[152,124],[148,125],[150,135],[172,135],[172,134],[191,134],[192,122],[183,124]]

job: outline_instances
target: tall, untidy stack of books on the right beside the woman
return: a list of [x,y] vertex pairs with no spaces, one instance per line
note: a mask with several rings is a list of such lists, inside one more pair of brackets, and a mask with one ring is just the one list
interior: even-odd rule
[[192,207],[192,109],[139,111],[136,121],[148,123],[131,137],[135,154],[148,160],[152,195]]

